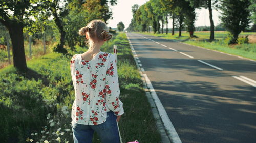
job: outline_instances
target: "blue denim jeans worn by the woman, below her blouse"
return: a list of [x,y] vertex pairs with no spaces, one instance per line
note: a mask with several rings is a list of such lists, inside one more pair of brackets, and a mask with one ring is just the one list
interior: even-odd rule
[[72,122],[74,143],[92,143],[94,131],[97,132],[102,143],[120,143],[116,119],[114,112],[109,111],[106,121],[98,125],[83,125]]

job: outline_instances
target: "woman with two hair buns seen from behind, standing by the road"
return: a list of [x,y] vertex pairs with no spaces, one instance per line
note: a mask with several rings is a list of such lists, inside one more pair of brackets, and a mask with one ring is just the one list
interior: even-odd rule
[[88,39],[89,49],[73,55],[70,61],[75,101],[72,106],[74,142],[91,143],[94,131],[102,143],[119,141],[119,121],[124,113],[119,99],[119,83],[115,56],[100,51],[105,41],[112,38],[101,20],[92,20],[79,30]]

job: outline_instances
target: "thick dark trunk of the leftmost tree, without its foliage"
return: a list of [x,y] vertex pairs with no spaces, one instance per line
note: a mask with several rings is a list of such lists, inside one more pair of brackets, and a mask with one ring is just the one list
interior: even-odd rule
[[10,24],[7,28],[12,41],[13,65],[17,70],[25,72],[28,68],[24,50],[23,25]]

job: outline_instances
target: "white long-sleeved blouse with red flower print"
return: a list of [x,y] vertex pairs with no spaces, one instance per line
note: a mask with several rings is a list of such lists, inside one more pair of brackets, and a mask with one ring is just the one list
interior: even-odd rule
[[73,55],[70,71],[75,89],[71,118],[78,124],[97,125],[106,121],[106,113],[124,113],[119,99],[120,89],[115,55],[98,52],[85,61],[81,54]]

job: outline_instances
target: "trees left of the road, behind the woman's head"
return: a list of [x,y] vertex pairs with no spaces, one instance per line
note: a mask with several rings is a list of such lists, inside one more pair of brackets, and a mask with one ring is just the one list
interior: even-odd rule
[[77,43],[83,43],[83,38],[78,35],[79,28],[93,19],[106,22],[112,17],[109,6],[116,4],[116,0],[1,0],[0,22],[9,31],[14,67],[21,72],[28,70],[24,32],[33,35],[44,32],[46,26],[56,27],[60,36],[54,51],[66,54],[64,47],[74,50]]

